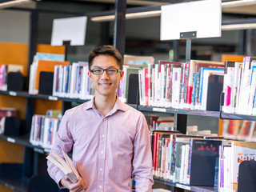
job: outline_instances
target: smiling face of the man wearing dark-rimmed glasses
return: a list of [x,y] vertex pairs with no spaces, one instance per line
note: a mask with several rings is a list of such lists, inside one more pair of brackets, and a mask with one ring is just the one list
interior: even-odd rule
[[115,96],[116,89],[123,77],[123,71],[117,74],[106,74],[106,69],[120,70],[116,59],[109,55],[99,55],[94,58],[93,65],[90,70],[104,69],[103,74],[93,74],[88,72],[90,80],[93,82],[95,96],[101,95],[105,97]]

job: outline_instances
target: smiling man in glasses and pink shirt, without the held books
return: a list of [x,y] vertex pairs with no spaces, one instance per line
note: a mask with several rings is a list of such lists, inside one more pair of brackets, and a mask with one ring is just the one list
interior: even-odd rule
[[133,176],[136,191],[151,191],[152,155],[146,119],[116,95],[124,74],[122,56],[113,46],[100,46],[89,54],[88,62],[94,98],[66,111],[53,147],[58,154],[62,154],[61,148],[67,153],[73,147],[72,158],[82,178],[72,183],[48,162],[50,177],[72,192],[128,192]]

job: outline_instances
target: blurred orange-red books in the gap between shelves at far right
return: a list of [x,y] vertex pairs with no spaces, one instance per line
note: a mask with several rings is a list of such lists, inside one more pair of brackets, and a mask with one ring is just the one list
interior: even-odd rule
[[222,135],[224,138],[256,142],[256,122],[224,119],[222,123]]

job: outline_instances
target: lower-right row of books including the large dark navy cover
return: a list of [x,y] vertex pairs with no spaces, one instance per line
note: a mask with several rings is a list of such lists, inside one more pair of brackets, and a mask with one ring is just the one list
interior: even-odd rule
[[[172,182],[236,191],[239,164],[256,158],[256,142],[235,142],[222,137],[161,130],[154,130],[153,135],[154,176]],[[228,147],[232,151],[222,151]]]

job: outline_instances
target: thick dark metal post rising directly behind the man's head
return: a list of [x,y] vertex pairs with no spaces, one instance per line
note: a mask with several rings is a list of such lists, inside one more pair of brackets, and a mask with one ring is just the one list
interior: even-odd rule
[[114,12],[113,45],[123,56],[126,47],[126,0],[116,0]]

